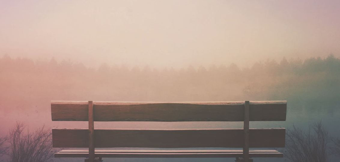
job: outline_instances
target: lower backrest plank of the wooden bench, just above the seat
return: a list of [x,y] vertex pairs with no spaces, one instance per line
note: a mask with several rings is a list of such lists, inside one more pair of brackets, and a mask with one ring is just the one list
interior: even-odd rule
[[[285,147],[285,128],[249,130],[249,147]],[[88,129],[53,128],[53,147],[88,147]],[[243,129],[95,129],[95,147],[243,147]]]

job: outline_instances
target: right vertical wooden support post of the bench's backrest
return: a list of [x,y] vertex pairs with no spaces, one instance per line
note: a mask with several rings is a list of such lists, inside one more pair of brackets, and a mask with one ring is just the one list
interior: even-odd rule
[[249,162],[249,101],[244,102],[244,144],[243,144],[243,159],[244,162]]

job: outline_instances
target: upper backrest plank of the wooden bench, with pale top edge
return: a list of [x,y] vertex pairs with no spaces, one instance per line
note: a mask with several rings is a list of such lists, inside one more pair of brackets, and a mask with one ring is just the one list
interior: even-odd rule
[[[87,101],[51,101],[52,121],[88,121]],[[243,121],[244,102],[93,102],[95,121]],[[250,102],[250,121],[285,121],[286,101]]]

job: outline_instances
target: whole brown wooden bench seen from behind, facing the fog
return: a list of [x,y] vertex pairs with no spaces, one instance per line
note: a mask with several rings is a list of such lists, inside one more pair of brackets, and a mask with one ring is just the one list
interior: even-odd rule
[[[92,102],[51,101],[52,121],[89,121],[88,129],[53,128],[54,157],[102,158],[249,158],[283,157],[285,128],[249,129],[249,121],[285,121],[286,101],[254,102]],[[94,121],[200,122],[243,121],[243,129],[94,129]],[[194,148],[224,147],[242,150],[95,150],[112,147]],[[243,159],[244,160],[243,160]]]

